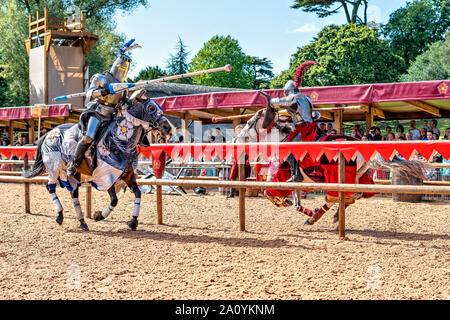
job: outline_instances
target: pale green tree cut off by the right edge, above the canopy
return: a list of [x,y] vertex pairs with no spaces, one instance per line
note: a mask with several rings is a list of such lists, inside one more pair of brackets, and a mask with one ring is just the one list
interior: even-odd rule
[[450,79],[450,31],[445,40],[433,43],[427,51],[417,56],[400,77],[401,81],[427,81]]

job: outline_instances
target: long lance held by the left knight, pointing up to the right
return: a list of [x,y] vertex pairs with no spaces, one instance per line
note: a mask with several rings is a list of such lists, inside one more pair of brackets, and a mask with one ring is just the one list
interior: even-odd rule
[[[168,77],[163,77],[163,78],[158,78],[158,79],[153,79],[153,80],[144,80],[144,81],[139,81],[136,83],[111,83],[108,85],[108,91],[111,94],[116,94],[118,92],[122,92],[125,90],[138,90],[141,89],[143,87],[146,87],[148,85],[154,84],[154,83],[159,83],[159,82],[164,82],[164,81],[170,81],[170,80],[175,80],[175,79],[183,79],[183,78],[189,78],[189,77],[194,77],[194,76],[199,76],[202,74],[207,74],[207,73],[213,73],[213,72],[220,72],[220,71],[227,71],[230,72],[231,71],[231,65],[227,64],[226,66],[220,67],[220,68],[213,68],[213,69],[207,69],[207,70],[200,70],[200,71],[195,71],[195,72],[190,72],[190,73],[183,73],[183,74],[177,74],[174,76],[168,76]],[[104,89],[103,89],[104,90]],[[101,95],[101,91],[100,90],[95,90],[92,93],[92,96],[99,96]],[[80,93],[73,93],[73,94],[68,94],[65,96],[60,96],[60,97],[56,97],[53,98],[54,101],[60,101],[60,100],[66,100],[66,99],[71,99],[71,98],[78,98],[78,97],[84,97],[86,96],[86,92],[80,92]]]

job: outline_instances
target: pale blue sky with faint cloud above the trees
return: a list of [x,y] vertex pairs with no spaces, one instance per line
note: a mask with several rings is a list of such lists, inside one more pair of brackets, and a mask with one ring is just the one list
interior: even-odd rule
[[[166,67],[178,37],[191,51],[189,59],[214,35],[231,35],[244,53],[266,57],[278,74],[289,66],[299,46],[311,42],[324,26],[343,24],[344,13],[319,19],[314,13],[291,9],[293,0],[150,0],[131,14],[116,15],[117,31],[135,38],[133,78],[147,66]],[[406,0],[371,0],[369,21],[385,23]]]

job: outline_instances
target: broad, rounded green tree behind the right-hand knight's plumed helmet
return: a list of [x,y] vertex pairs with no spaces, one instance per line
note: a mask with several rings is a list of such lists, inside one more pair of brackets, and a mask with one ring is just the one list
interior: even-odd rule
[[294,79],[297,67],[315,60],[303,76],[303,86],[332,86],[397,81],[405,70],[403,59],[396,55],[376,30],[364,25],[330,25],[314,41],[299,47],[292,55],[289,70],[276,77],[272,88],[281,88]]

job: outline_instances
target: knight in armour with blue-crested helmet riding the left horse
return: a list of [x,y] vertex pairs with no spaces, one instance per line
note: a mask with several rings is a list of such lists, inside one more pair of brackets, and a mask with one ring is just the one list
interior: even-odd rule
[[86,92],[87,110],[81,114],[79,122],[83,138],[78,142],[74,158],[67,169],[69,176],[75,174],[84,154],[96,139],[100,129],[112,121],[121,104],[126,101],[127,91],[111,92],[108,86],[125,81],[131,63],[131,58],[125,52],[140,47],[137,44],[131,46],[133,41],[134,39],[130,40],[119,49],[119,56],[112,64],[111,69],[97,73],[91,78],[89,89]]

